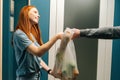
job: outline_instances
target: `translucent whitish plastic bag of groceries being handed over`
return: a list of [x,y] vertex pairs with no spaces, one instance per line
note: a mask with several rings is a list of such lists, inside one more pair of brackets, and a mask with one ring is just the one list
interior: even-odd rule
[[65,35],[61,40],[60,47],[57,50],[53,73],[61,80],[75,80],[79,74],[76,61],[76,52],[72,32],[70,29],[65,30]]

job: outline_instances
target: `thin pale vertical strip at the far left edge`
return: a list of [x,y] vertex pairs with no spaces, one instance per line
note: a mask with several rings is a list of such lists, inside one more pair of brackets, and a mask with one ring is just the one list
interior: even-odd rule
[[0,80],[2,80],[2,11],[3,0],[0,0]]

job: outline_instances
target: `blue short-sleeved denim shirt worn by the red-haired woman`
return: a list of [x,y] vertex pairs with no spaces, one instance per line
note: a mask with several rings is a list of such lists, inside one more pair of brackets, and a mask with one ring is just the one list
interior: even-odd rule
[[[40,71],[40,57],[37,57],[26,50],[33,42],[20,29],[16,30],[13,36],[13,45],[18,68],[17,76],[26,76]],[[36,46],[40,46],[34,42]]]

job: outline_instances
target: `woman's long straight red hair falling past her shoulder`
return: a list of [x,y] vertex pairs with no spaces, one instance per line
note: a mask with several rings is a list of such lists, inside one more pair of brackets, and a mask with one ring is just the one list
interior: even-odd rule
[[[42,45],[43,41],[41,38],[41,32],[39,29],[38,24],[31,24],[29,16],[28,16],[28,12],[30,11],[30,9],[35,8],[35,6],[24,6],[19,14],[19,20],[18,20],[18,24],[16,27],[17,29],[22,30],[30,40],[32,40],[34,42],[34,40],[32,39],[30,33],[33,34],[33,36],[35,37],[35,39],[37,40],[37,42]],[[31,29],[30,29],[31,28]]]

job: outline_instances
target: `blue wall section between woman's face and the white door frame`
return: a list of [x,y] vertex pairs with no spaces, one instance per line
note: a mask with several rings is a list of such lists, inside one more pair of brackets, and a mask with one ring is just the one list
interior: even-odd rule
[[[39,25],[45,43],[49,40],[50,0],[30,0],[30,4],[36,6],[39,11]],[[43,55],[42,59],[48,64],[48,52]],[[48,74],[44,70],[42,70],[41,80],[48,80]]]

